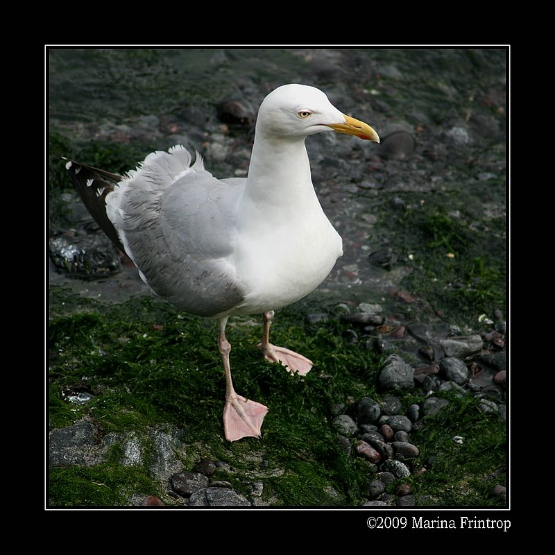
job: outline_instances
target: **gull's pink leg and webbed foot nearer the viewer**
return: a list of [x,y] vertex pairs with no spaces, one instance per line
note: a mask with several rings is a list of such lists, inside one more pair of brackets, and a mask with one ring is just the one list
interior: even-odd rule
[[237,441],[245,437],[259,438],[262,421],[268,412],[268,408],[264,407],[263,404],[250,401],[235,393],[230,369],[231,345],[225,338],[225,325],[227,323],[227,316],[219,321],[220,330],[218,339],[223,370],[225,372],[225,407],[223,409],[225,439]]

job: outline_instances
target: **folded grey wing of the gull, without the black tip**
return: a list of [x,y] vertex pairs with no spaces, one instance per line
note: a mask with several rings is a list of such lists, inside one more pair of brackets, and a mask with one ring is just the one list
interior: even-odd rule
[[133,261],[153,291],[180,310],[216,316],[244,299],[233,260],[244,181],[187,173],[131,209],[140,222],[125,232]]

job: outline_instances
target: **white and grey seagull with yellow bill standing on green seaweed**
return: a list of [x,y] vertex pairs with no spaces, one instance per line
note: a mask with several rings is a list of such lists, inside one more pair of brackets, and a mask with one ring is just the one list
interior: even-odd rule
[[214,318],[225,373],[228,441],[261,437],[268,407],[237,394],[225,336],[230,316],[263,315],[258,347],[305,375],[313,363],[270,343],[276,309],[314,291],[343,254],[312,185],[305,139],[334,131],[379,143],[319,89],[289,84],[260,105],[246,178],[217,179],[183,146],[156,151],[126,176],[74,160],[66,168],[83,203],[139,274],[180,311]]

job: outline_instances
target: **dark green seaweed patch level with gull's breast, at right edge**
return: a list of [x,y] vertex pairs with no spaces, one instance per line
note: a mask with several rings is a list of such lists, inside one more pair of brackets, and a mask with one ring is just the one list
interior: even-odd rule
[[[403,285],[425,299],[421,318],[441,317],[475,328],[480,314],[493,317],[506,302],[504,216],[472,213],[454,192],[402,195],[407,210],[383,205],[382,224],[395,222],[391,245],[411,272]],[[447,211],[445,206],[449,206]]]

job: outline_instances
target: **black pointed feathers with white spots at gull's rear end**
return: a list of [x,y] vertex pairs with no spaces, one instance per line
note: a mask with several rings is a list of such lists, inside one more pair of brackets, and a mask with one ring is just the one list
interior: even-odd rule
[[106,214],[106,196],[114,190],[114,187],[117,187],[117,184],[123,178],[118,176],[117,173],[85,166],[85,164],[67,158],[64,158],[64,160],[67,160],[65,167],[89,214],[112,243],[125,253],[126,249],[119,239],[117,230]]

